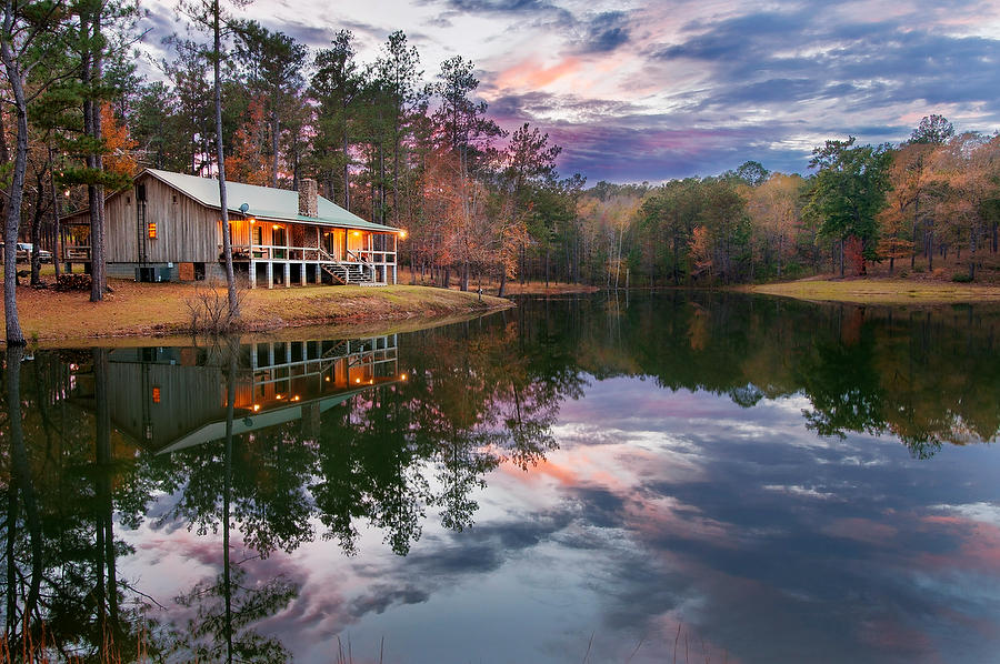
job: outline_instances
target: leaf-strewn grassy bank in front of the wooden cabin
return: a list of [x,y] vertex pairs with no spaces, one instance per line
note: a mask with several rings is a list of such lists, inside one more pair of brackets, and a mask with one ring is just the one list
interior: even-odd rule
[[[29,340],[68,342],[110,336],[163,336],[189,331],[198,289],[188,283],[136,283],[109,280],[113,289],[104,302],[90,302],[89,292],[58,293],[18,289],[21,328]],[[241,291],[243,320],[250,331],[304,325],[382,328],[386,321],[432,322],[511,306],[507,300],[443,289],[396,285],[307,286]],[[224,289],[220,290],[224,298]],[[397,325],[398,326],[398,325]]]

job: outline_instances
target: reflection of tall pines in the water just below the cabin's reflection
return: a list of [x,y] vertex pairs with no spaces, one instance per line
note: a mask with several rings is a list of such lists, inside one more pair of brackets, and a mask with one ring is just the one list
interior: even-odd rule
[[[487,473],[503,462],[528,469],[556,446],[550,427],[560,401],[581,393],[579,373],[512,352],[513,325],[454,332],[413,334],[406,380],[237,436],[231,504],[244,545],[261,556],[292,551],[319,521],[352,553],[367,522],[406,554],[428,509],[461,530]],[[158,487],[179,496],[167,519],[218,532],[224,456],[220,441],[148,462]]]

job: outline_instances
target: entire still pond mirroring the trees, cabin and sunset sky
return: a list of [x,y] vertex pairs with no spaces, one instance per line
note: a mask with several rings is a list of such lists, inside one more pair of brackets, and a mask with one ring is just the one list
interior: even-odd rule
[[368,339],[8,351],[8,643],[997,661],[998,333],[996,308],[660,293]]

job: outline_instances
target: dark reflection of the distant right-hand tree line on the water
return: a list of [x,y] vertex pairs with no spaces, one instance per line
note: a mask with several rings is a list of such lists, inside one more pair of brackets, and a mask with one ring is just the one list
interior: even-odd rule
[[889,433],[922,457],[942,443],[991,441],[1000,431],[997,308],[667,292],[632,300],[616,314],[613,333],[592,298],[519,309],[522,336],[559,331],[558,343],[576,350],[573,366],[592,375],[652,376],[663,388],[707,390],[744,406],[803,393],[807,423],[822,435]]

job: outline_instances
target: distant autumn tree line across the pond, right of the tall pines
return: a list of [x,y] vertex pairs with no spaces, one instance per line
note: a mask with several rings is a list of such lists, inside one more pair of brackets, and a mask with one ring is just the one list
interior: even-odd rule
[[899,145],[826,141],[808,177],[748,161],[660,187],[600,182],[574,221],[583,261],[561,279],[608,285],[738,283],[833,272],[960,265],[972,281],[998,251],[1000,137],[924,118]]

